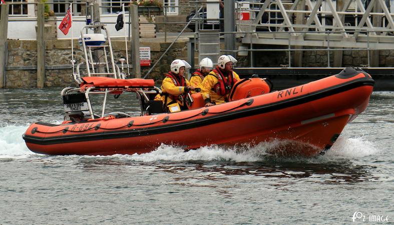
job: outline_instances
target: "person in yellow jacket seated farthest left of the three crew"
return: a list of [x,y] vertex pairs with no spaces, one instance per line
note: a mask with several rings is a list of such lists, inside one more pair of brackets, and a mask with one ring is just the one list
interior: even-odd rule
[[186,95],[194,90],[184,74],[191,66],[185,60],[175,59],[171,63],[171,71],[166,74],[161,85],[163,107],[167,112],[187,109]]

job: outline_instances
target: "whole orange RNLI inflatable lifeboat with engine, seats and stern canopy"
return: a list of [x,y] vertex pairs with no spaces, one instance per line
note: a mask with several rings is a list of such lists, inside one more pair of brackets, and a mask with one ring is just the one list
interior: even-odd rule
[[[271,153],[314,156],[329,149],[344,126],[367,106],[374,80],[358,68],[284,90],[271,91],[266,79],[238,81],[230,101],[204,106],[191,94],[189,110],[165,113],[153,100],[160,89],[150,79],[84,77],[78,88],[62,90],[62,124],[36,122],[23,134],[34,152],[50,155],[146,153],[160,144],[185,150],[205,145],[250,145],[276,141]],[[107,95],[136,93],[141,115],[105,111]],[[101,115],[90,95],[105,95]]]

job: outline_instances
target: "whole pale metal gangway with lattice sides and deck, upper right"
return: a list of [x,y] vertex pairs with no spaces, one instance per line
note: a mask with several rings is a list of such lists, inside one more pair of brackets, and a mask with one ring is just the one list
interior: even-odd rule
[[394,43],[394,14],[385,0],[371,0],[366,8],[362,0],[247,3],[255,18],[243,43],[365,49],[387,49]]

